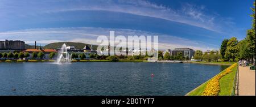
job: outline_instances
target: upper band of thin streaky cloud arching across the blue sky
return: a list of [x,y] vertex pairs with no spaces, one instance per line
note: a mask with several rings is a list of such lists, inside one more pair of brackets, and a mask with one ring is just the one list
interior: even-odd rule
[[[59,5],[61,4],[61,5]],[[180,8],[173,8],[170,6],[158,5],[156,3],[143,0],[99,0],[99,1],[30,1],[18,2],[5,1],[0,3],[0,18],[14,15],[23,16],[47,14],[55,12],[67,11],[111,11],[122,12],[133,15],[148,16],[152,18],[159,18],[169,20],[172,22],[179,22],[195,27],[205,28],[210,31],[224,33],[222,29],[226,25],[232,26],[234,22],[227,18],[222,18],[219,15],[208,14],[205,6],[192,5],[189,3],[181,4]],[[16,12],[18,11],[18,12]],[[21,14],[19,14],[21,13]],[[232,30],[233,31],[233,30]]]

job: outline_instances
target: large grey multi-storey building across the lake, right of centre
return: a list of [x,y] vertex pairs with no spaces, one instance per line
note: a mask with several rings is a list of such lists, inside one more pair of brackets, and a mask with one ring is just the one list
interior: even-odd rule
[[191,59],[195,54],[195,50],[190,48],[175,48],[174,50],[169,51],[171,55],[177,55],[178,52],[181,52],[184,57],[188,57],[189,59]]

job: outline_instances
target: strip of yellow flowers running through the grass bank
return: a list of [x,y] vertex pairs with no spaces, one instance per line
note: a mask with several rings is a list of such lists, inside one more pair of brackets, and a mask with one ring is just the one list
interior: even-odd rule
[[232,66],[228,67],[225,72],[222,72],[220,75],[217,75],[212,80],[210,80],[210,82],[208,82],[207,86],[204,89],[203,96],[217,96],[218,92],[220,92],[219,80],[222,78],[222,76],[225,76],[226,74],[232,72],[232,69],[236,65],[237,63],[234,63]]

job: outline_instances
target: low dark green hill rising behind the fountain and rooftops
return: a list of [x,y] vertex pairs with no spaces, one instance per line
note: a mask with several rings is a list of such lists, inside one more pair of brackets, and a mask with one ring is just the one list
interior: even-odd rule
[[[57,49],[57,48],[61,48],[61,46],[63,44],[66,44],[67,46],[75,46],[76,49],[83,49],[85,45],[88,45],[90,47],[89,44],[84,44],[81,42],[53,42],[51,44],[48,44],[46,46],[44,46],[43,48],[46,49]],[[96,50],[97,46],[93,45],[93,50]]]

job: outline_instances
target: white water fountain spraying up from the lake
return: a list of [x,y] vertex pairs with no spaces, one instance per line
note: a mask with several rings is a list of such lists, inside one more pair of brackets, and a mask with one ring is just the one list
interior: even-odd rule
[[72,54],[67,52],[67,45],[63,44],[58,52],[57,63],[71,63],[71,56]]

